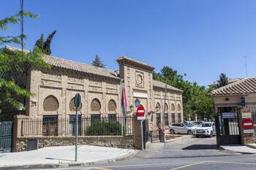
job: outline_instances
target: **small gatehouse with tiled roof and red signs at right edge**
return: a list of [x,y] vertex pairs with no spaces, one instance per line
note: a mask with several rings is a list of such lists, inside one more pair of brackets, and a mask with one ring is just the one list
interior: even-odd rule
[[211,91],[217,147],[256,143],[256,78],[245,78]]

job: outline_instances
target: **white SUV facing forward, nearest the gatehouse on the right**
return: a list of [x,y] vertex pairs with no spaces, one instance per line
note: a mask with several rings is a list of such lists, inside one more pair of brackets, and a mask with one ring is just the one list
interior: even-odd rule
[[216,128],[215,123],[212,122],[204,122],[198,128],[196,128],[195,136],[215,136]]

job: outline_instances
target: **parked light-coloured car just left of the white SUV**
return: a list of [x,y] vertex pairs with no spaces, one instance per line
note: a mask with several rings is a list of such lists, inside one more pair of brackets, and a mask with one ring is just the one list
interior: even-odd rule
[[192,134],[192,124],[190,123],[173,123],[170,127],[170,134]]

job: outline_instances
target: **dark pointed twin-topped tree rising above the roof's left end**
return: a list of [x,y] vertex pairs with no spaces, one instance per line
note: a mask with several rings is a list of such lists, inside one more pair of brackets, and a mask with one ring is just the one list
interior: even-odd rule
[[53,40],[53,36],[55,34],[56,34],[56,30],[50,33],[45,41],[44,41],[44,35],[41,34],[40,38],[35,43],[35,46],[39,47],[39,49],[41,49],[43,53],[50,55],[51,54],[50,43]]

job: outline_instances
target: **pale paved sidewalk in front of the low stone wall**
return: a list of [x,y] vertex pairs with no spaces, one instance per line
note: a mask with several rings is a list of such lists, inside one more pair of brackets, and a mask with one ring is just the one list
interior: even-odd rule
[[136,152],[138,151],[82,145],[78,146],[78,162],[75,162],[75,146],[45,147],[28,152],[0,153],[0,169],[56,168],[105,163],[131,157]]

